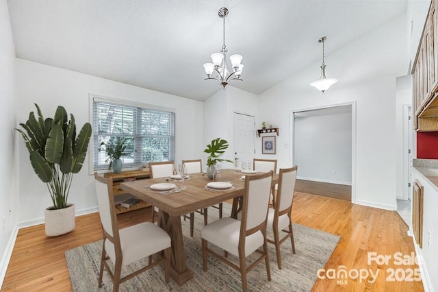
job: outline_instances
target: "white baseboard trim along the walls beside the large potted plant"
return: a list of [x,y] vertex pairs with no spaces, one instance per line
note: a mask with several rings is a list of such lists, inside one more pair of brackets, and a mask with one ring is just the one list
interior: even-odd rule
[[[92,208],[85,208],[85,209],[77,210],[75,212],[75,217],[78,217],[81,215],[87,215],[87,214],[94,213],[94,212],[99,212],[99,209],[97,207],[92,207]],[[12,256],[12,251],[14,250],[16,236],[18,236],[18,231],[21,228],[36,226],[36,225],[40,225],[43,223],[44,223],[44,217],[41,217],[41,218],[37,218],[34,220],[20,222],[14,226],[14,230],[12,230],[10,239],[8,241],[8,245],[6,245],[6,248],[5,248],[5,253],[3,254],[3,258],[1,258],[1,262],[0,262],[0,290],[1,290],[1,286],[3,285],[3,280],[5,280],[6,271],[8,269],[9,261],[10,261],[11,256]]]

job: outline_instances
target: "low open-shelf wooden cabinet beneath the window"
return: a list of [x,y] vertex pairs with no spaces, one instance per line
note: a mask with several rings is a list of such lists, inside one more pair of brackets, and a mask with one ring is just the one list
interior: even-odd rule
[[125,198],[127,197],[127,193],[120,188],[120,184],[122,182],[127,182],[130,180],[144,180],[146,178],[149,178],[149,175],[149,171],[122,171],[121,173],[105,173],[103,175],[105,178],[112,178],[112,191],[115,196],[114,201],[116,202],[117,214],[151,206],[151,204],[140,201],[136,205],[131,206],[131,208],[124,208],[120,206],[120,202],[118,202],[119,200],[117,199],[117,196]]

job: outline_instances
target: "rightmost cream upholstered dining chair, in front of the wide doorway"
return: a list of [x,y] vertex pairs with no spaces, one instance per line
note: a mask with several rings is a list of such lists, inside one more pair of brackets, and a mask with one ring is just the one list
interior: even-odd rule
[[[290,238],[292,253],[295,254],[294,232],[292,230],[292,202],[294,201],[297,169],[297,166],[280,169],[279,188],[276,191],[274,208],[270,208],[268,211],[268,230],[274,233],[274,239],[268,238],[268,242],[275,245],[276,262],[279,269],[281,269],[281,243]],[[285,228],[289,230],[285,230]],[[287,233],[282,239],[280,239],[281,231]]]

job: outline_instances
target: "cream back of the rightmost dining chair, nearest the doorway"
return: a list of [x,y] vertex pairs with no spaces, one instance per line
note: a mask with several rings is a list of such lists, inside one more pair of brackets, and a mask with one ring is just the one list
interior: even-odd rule
[[292,205],[292,200],[294,199],[297,169],[297,166],[289,169],[280,169],[279,190],[276,197],[279,204],[279,211],[290,208],[290,206]]

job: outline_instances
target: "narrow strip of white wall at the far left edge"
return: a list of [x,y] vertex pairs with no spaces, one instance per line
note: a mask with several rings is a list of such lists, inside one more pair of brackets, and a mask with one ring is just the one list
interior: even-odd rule
[[[12,232],[18,222],[16,196],[16,99],[14,98],[15,51],[9,20],[8,2],[0,0],[0,287],[5,276]],[[11,210],[11,212],[9,212]]]

